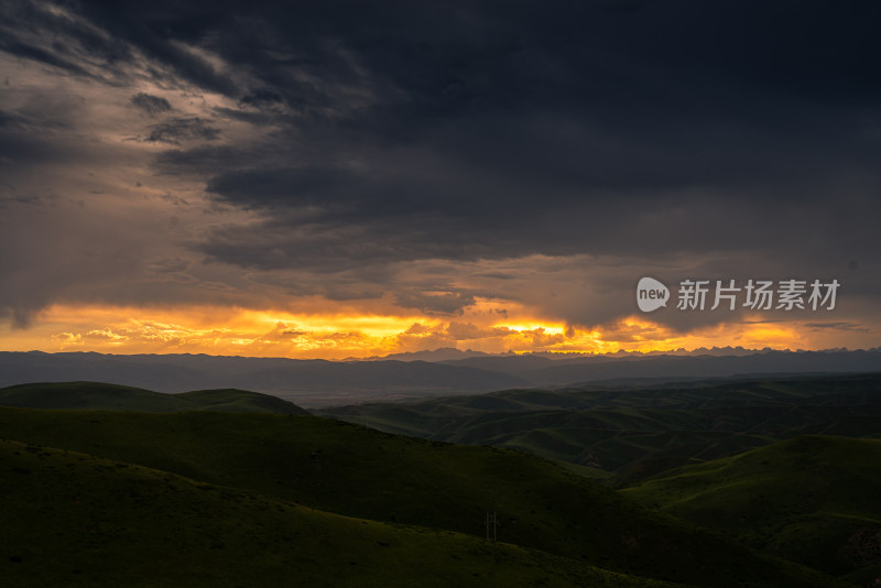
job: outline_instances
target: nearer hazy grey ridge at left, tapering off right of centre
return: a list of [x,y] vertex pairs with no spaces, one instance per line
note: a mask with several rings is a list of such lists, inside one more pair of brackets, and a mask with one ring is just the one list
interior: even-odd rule
[[237,388],[320,404],[529,386],[523,378],[424,361],[326,361],[207,355],[0,352],[0,385],[99,381],[176,393]]

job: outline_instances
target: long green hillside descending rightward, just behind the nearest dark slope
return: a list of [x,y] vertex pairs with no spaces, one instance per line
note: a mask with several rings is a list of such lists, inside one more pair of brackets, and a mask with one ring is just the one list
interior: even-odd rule
[[0,436],[139,464],[350,516],[482,535],[695,586],[830,586],[575,476],[496,448],[308,416],[0,409]]

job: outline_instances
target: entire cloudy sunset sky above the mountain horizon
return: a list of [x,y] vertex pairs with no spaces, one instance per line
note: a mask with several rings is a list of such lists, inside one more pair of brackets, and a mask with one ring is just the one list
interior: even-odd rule
[[[4,1],[0,350],[878,347],[879,21]],[[644,276],[665,306],[640,309]],[[779,307],[792,280],[804,308]],[[679,307],[685,281],[706,307]],[[815,282],[835,300],[812,307]]]

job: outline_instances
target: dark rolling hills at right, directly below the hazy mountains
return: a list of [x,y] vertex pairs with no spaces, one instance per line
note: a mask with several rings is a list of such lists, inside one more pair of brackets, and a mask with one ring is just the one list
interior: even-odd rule
[[881,375],[510,390],[319,414],[428,439],[522,449],[631,483],[805,433],[879,435]]

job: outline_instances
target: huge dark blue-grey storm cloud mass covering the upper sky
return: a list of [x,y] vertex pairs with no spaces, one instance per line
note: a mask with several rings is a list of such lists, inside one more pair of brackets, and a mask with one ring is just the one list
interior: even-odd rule
[[[184,144],[157,154],[156,172],[202,178],[218,204],[253,215],[189,242],[209,260],[328,276],[618,255],[664,280],[827,279],[857,263],[850,291],[879,295],[881,4],[35,6],[4,9],[19,22],[3,29],[8,53],[73,76],[174,76],[228,99],[210,122],[176,117],[142,135]],[[248,132],[227,139],[230,121]],[[394,290],[393,273],[373,275]],[[621,301],[639,275],[597,275],[616,287],[589,309],[559,302],[573,320],[632,306]],[[455,312],[474,295],[434,292],[395,297]]]

